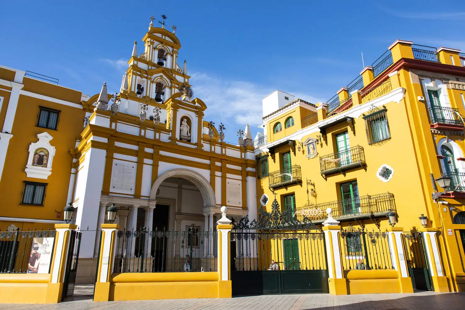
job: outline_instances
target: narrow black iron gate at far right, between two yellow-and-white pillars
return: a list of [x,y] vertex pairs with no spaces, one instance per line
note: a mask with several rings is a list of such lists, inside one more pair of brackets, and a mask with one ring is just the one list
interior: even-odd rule
[[421,232],[402,234],[405,262],[409,276],[412,278],[414,290],[432,290],[431,274],[428,270],[428,259]]

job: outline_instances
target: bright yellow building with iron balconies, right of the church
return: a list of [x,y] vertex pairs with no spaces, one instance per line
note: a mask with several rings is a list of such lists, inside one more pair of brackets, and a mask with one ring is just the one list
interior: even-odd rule
[[[464,59],[456,49],[397,40],[326,103],[280,91],[263,99],[257,195],[314,224],[332,209],[342,272],[329,271],[330,286],[342,278],[352,294],[465,290]],[[451,185],[443,191],[444,180]],[[288,238],[265,264],[312,269],[305,239]]]

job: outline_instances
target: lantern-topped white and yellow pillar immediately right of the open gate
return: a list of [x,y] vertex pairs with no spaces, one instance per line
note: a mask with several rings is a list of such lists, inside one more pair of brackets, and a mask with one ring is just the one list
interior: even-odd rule
[[116,234],[120,225],[101,224],[100,226],[102,227],[102,242],[93,301],[108,301],[110,298],[110,276],[116,254]]

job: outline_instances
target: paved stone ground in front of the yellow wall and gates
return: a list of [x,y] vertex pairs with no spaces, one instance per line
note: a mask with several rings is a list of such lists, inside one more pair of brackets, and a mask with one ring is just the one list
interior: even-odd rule
[[[1,292],[0,292],[1,293]],[[465,293],[263,295],[221,299],[166,299],[94,303],[73,297],[58,304],[0,304],[0,310],[465,310]]]

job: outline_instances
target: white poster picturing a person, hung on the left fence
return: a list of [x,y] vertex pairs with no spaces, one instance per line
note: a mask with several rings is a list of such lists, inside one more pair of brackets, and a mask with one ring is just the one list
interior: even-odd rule
[[49,273],[52,262],[53,240],[55,238],[34,238],[27,264],[27,273]]

